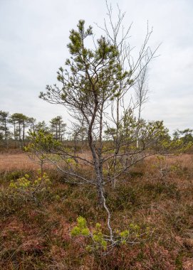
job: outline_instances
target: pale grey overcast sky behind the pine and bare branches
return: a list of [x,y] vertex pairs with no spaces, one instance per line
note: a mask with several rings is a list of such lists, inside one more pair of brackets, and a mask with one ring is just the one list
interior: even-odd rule
[[[150,98],[142,117],[174,129],[193,128],[193,1],[112,0],[132,24],[132,45],[153,26],[150,45],[162,43],[150,65]],[[0,0],[0,110],[47,122],[69,116],[61,106],[38,99],[68,58],[69,31],[80,18],[103,23],[105,0]]]

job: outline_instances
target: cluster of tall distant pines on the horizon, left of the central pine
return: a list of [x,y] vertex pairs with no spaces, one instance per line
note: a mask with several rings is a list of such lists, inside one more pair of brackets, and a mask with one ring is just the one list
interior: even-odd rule
[[28,141],[28,131],[47,131],[53,134],[53,138],[63,141],[66,132],[66,123],[61,116],[54,117],[49,122],[36,121],[33,117],[27,117],[21,113],[10,114],[0,111],[0,145],[1,147],[22,148]]

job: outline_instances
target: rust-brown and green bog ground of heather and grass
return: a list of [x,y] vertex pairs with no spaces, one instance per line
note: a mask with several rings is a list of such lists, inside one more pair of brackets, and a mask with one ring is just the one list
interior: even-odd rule
[[48,166],[49,185],[33,193],[35,200],[30,190],[9,187],[26,173],[33,181],[36,169],[26,153],[0,154],[0,269],[193,269],[192,154],[147,158],[115,189],[106,188],[114,232],[132,224],[150,234],[105,255],[86,248],[88,237],[71,236],[78,216],[85,217],[90,229],[100,222],[107,232],[107,215],[98,207],[95,188],[65,183],[66,175]]

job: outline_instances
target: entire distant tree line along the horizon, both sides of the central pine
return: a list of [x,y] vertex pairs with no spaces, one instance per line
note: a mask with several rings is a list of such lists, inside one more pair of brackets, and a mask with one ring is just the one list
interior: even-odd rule
[[[21,113],[10,114],[9,112],[0,111],[0,146],[4,148],[22,148],[28,143],[28,132],[45,131],[52,134],[53,139],[57,141],[72,141],[74,151],[82,148],[87,141],[85,126],[72,124],[72,128],[66,129],[61,116],[54,117],[46,124],[46,121],[36,121],[33,117],[27,117]],[[110,141],[114,129],[105,131],[105,140]],[[115,135],[115,134],[114,134]],[[184,144],[193,143],[193,129],[175,130],[172,138],[167,133],[169,141],[182,139]]]

